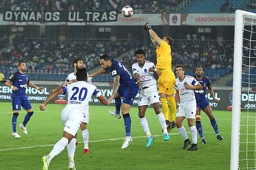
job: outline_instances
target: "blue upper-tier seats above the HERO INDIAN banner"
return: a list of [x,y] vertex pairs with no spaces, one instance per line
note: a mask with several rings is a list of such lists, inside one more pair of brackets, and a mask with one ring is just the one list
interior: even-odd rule
[[[234,12],[236,9],[242,9],[249,0],[237,1],[237,0],[228,0],[228,5],[225,6],[224,9],[221,10],[223,4],[225,4],[226,0],[218,0],[218,1],[205,1],[205,0],[196,0],[192,1],[188,7],[181,11],[181,13],[227,13]],[[233,10],[229,10],[229,8],[233,5]]]

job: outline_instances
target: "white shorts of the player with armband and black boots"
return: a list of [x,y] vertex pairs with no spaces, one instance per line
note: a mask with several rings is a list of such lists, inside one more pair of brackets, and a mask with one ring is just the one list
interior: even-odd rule
[[176,117],[194,118],[197,112],[197,103],[191,102],[189,104],[181,103],[177,109]]

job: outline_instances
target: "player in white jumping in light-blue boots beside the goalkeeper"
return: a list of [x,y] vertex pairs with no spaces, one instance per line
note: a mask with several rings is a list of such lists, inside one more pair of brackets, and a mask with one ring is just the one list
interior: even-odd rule
[[140,87],[139,96],[139,117],[140,124],[147,135],[146,147],[150,147],[154,137],[151,135],[150,128],[145,117],[145,111],[151,104],[154,107],[155,113],[157,114],[160,125],[163,129],[164,140],[169,140],[167,132],[165,118],[160,110],[159,96],[157,90],[158,75],[156,66],[153,62],[145,60],[145,51],[139,49],[135,52],[137,62],[132,65],[133,74],[138,87]]

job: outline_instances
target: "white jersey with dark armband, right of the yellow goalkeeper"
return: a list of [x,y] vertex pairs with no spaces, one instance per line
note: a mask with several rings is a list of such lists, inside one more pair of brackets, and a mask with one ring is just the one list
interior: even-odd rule
[[184,83],[187,83],[190,86],[197,86],[198,81],[194,77],[187,75],[185,75],[185,78],[182,81],[180,81],[179,78],[176,79],[175,89],[179,90],[180,103],[189,104],[192,101],[196,101],[194,90],[187,89],[184,86]]

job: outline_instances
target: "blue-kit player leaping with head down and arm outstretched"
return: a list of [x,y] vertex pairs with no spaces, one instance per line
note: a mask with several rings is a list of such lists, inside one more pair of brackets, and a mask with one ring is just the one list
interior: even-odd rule
[[[134,98],[137,95],[139,88],[135,84],[135,79],[131,72],[118,60],[111,59],[109,55],[104,54],[100,57],[100,65],[102,68],[89,76],[94,77],[109,71],[111,76],[114,77],[114,88],[112,95],[108,99],[108,103],[110,104],[111,101],[115,99],[116,109],[120,110],[121,107],[126,132],[126,136],[121,147],[121,149],[124,149],[133,141],[131,137],[131,117],[129,111],[133,105]],[[122,104],[120,96],[123,97]],[[120,99],[120,101],[117,103],[116,99]]]

